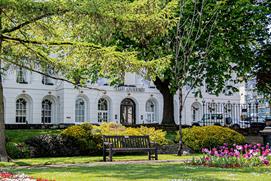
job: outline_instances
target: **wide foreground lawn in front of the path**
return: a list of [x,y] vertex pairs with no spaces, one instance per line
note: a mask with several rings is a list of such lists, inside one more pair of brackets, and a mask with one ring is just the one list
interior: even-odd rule
[[267,181],[271,177],[270,167],[259,168],[208,168],[180,163],[152,164],[99,164],[66,168],[12,169],[35,178],[57,181],[155,181],[155,180],[251,180]]

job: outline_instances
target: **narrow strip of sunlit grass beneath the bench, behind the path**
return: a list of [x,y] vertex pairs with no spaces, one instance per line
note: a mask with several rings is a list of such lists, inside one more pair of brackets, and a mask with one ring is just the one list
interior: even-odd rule
[[[185,160],[192,159],[193,156],[176,156],[174,154],[160,154],[159,160]],[[147,155],[116,155],[113,157],[114,161],[134,161],[147,160]],[[59,164],[80,164],[80,163],[94,163],[102,161],[102,156],[77,156],[77,157],[50,157],[50,158],[28,158],[16,159],[13,162],[0,162],[0,167],[9,166],[37,166],[37,165],[59,165]]]

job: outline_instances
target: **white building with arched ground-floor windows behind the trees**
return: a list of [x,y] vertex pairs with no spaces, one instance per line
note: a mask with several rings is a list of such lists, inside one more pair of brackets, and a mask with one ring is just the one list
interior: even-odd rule
[[[3,81],[6,124],[76,124],[114,121],[126,124],[161,123],[163,97],[152,82],[127,73],[125,85],[111,87],[105,79],[90,85],[99,90],[81,88],[31,73],[10,70]],[[187,90],[183,90],[184,92]],[[202,101],[240,103],[240,95],[216,97],[203,91],[203,99],[189,94],[184,107],[183,124],[202,117]],[[178,97],[175,96],[175,120],[178,122]]]

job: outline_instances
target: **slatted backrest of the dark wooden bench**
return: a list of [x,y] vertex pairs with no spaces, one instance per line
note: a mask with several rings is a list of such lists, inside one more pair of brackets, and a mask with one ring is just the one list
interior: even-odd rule
[[150,148],[150,137],[146,136],[103,136],[103,142],[113,148]]

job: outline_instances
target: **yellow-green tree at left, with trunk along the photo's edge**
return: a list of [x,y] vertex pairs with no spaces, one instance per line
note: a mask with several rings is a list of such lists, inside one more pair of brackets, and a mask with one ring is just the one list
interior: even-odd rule
[[[86,86],[86,80],[96,80],[97,62],[133,60],[130,52],[119,52],[114,47],[83,41],[71,24],[82,26],[78,17],[96,21],[106,19],[99,12],[109,12],[117,1],[100,0],[2,0],[0,4],[0,68],[17,66],[51,78],[68,81],[75,86]],[[75,24],[75,22],[77,23]],[[73,31],[72,31],[73,30]],[[87,62],[85,61],[87,57]],[[97,67],[96,66],[96,67]],[[90,67],[92,67],[90,69]],[[106,68],[106,67],[105,67]],[[105,68],[101,70],[105,71]],[[60,73],[49,75],[47,69]],[[5,149],[5,120],[2,75],[0,74],[0,161],[8,161]],[[113,74],[113,73],[112,73]],[[93,77],[89,77],[92,75]]]

